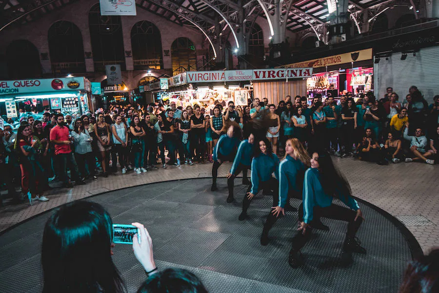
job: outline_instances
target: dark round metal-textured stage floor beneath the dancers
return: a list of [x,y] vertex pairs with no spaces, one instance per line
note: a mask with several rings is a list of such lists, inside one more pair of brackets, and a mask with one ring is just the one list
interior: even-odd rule
[[[397,292],[407,261],[421,253],[415,238],[395,218],[360,202],[366,221],[358,237],[366,255],[354,254],[344,268],[339,256],[347,224],[322,218],[329,232],[314,230],[302,249],[305,265],[288,263],[297,212],[287,212],[270,231],[268,246],[259,244],[272,197],[261,192],[239,221],[246,187],[235,180],[235,199],[226,203],[226,179],[210,191],[211,179],[161,182],[102,193],[86,200],[102,204],[115,224],[140,222],[148,229],[159,269],[184,268],[197,274],[210,293],[257,292]],[[291,204],[299,207],[299,200]],[[41,292],[41,214],[0,237],[1,292]],[[117,244],[114,262],[128,287],[136,292],[145,274],[130,245]]]

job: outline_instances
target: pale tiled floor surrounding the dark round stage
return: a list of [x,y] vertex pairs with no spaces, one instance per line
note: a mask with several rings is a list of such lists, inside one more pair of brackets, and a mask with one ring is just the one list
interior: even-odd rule
[[[423,251],[439,246],[439,167],[421,163],[379,166],[352,158],[334,158],[349,180],[353,194],[399,218],[414,234]],[[144,174],[113,175],[75,188],[57,188],[47,192],[49,202],[8,205],[0,209],[0,231],[64,203],[109,190],[147,183],[210,177],[209,163],[168,167]],[[230,164],[220,167],[219,176],[227,174]],[[123,192],[123,191],[122,191]],[[367,221],[367,214],[365,215]]]

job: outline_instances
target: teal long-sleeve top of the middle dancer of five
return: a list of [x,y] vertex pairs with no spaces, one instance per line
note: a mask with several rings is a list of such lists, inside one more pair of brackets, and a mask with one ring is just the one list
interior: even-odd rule
[[268,181],[271,174],[275,173],[279,179],[279,158],[276,154],[263,154],[253,158],[252,161],[252,188],[251,193],[256,194],[259,191],[259,182]]

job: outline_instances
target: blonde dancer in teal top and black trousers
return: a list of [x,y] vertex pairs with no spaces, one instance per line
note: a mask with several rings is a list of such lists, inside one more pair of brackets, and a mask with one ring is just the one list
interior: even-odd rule
[[[278,204],[273,205],[265,221],[260,244],[268,244],[268,232],[276,223],[278,218],[285,215],[284,207],[289,205],[290,196],[300,198],[303,186],[303,177],[306,167],[310,165],[310,158],[298,138],[286,141],[285,158],[279,164],[279,199]],[[273,195],[274,197],[274,195]]]

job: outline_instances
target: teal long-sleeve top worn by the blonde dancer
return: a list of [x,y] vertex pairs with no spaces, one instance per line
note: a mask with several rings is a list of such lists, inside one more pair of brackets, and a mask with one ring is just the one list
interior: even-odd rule
[[279,164],[279,207],[283,208],[289,191],[300,192],[306,167],[291,156],[286,156]]

